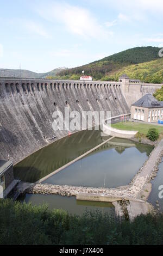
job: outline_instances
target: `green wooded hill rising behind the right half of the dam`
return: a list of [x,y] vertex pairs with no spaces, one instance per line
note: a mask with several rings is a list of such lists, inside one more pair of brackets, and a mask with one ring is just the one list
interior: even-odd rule
[[[94,80],[117,81],[118,77],[121,74],[124,74],[124,72],[128,72],[130,78],[137,78],[139,71],[142,71],[138,78],[141,78],[141,80],[145,80],[146,82],[152,82],[152,80],[154,80],[153,75],[155,74],[155,71],[161,72],[160,65],[162,62],[159,63],[159,60],[161,61],[158,56],[159,50],[160,48],[152,46],[135,47],[78,68],[63,70],[59,72],[55,78],[78,80],[84,70],[85,74],[92,76]],[[154,63],[153,61],[158,61],[158,63]],[[152,66],[149,65],[148,70],[148,64],[151,62],[153,62]],[[140,66],[139,70],[140,63],[142,66]],[[143,63],[147,63],[145,67],[143,66]],[[145,70],[142,70],[143,68]],[[131,74],[133,70],[137,70],[137,72]],[[161,80],[162,73],[159,77]]]

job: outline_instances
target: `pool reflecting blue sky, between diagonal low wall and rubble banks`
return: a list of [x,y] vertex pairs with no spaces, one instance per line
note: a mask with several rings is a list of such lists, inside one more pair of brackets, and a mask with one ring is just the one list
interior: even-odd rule
[[141,145],[140,152],[139,145],[122,139],[115,143],[107,143],[43,183],[108,188],[129,184],[152,149]]

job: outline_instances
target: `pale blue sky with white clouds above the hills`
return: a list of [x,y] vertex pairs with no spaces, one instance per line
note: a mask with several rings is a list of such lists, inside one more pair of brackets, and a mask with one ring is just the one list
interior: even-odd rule
[[0,0],[0,68],[73,68],[163,47],[162,0]]

